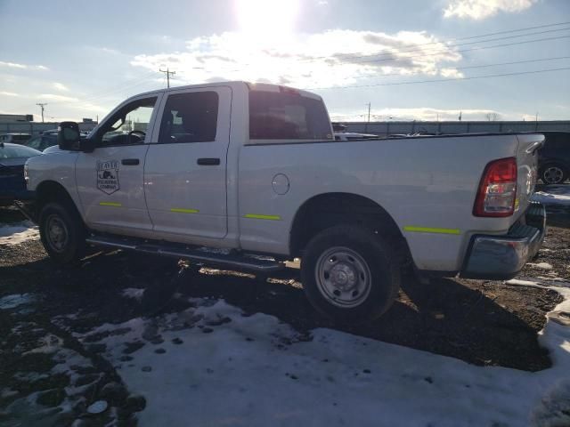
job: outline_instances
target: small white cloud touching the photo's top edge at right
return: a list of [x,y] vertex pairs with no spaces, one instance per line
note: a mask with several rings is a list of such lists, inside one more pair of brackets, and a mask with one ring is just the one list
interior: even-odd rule
[[484,20],[499,12],[521,12],[538,0],[450,0],[444,9],[444,17]]

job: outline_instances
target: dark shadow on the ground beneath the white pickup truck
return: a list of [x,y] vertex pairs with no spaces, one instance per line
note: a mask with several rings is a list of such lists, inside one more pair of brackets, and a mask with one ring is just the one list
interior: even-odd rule
[[[528,300],[534,301],[541,300],[541,293],[553,291],[522,291],[501,282],[473,281],[467,286],[445,278],[421,285],[413,276],[405,275],[399,298],[382,318],[367,325],[338,326],[322,318],[306,300],[298,270],[287,269],[275,276],[261,279],[199,266],[181,269],[173,259],[121,251],[94,254],[67,269],[56,268],[46,258],[0,268],[4,283],[25,283],[25,292],[42,294],[46,316],[79,313],[72,322],[77,332],[104,322],[120,323],[137,316],[184,310],[190,297],[212,297],[224,298],[246,316],[257,312],[273,315],[307,334],[316,327],[329,327],[476,365],[529,371],[551,365],[548,351],[537,341],[544,312],[551,307],[507,310],[490,295],[498,289],[502,294],[511,293],[512,301],[516,301],[517,295],[528,292]],[[145,288],[147,297],[142,301],[123,297],[129,287]],[[173,298],[175,294],[177,298]],[[521,317],[523,310],[539,320],[529,324],[526,316]]]

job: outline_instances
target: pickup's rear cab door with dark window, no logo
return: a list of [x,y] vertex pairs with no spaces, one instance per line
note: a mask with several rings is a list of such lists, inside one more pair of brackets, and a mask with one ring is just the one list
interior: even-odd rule
[[226,155],[232,89],[192,88],[165,95],[144,167],[154,231],[166,238],[224,238]]

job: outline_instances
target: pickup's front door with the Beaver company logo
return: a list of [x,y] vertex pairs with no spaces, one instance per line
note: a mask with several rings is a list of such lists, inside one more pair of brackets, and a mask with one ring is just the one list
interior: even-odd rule
[[152,230],[142,179],[159,98],[119,106],[91,137],[94,151],[77,157],[77,190],[90,228],[134,236]]

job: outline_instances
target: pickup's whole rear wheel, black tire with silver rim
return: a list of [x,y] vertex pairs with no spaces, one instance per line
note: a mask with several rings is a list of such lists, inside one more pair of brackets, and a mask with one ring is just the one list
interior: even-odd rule
[[357,324],[390,308],[400,289],[400,266],[372,230],[340,225],[306,246],[301,281],[316,310],[338,323]]

